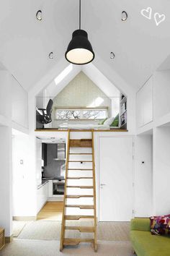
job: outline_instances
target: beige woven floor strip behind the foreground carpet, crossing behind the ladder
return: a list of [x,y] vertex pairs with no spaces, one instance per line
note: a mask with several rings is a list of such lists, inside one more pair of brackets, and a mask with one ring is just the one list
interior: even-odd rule
[[[92,226],[92,221],[68,221],[67,226]],[[99,241],[130,241],[130,224],[128,222],[100,222],[97,225]],[[22,229],[17,239],[60,240],[61,221],[32,221]],[[66,237],[92,238],[93,234],[79,231],[66,231]]]

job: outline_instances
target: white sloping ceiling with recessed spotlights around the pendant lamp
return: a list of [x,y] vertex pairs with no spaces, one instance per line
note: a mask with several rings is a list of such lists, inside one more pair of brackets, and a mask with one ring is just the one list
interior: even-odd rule
[[[138,90],[170,54],[170,1],[81,1],[81,28],[89,33],[97,55],[93,64],[97,66],[102,59],[106,65],[100,67],[101,72],[106,73],[108,66]],[[78,0],[0,1],[0,61],[26,90],[63,58],[73,30],[78,28],[78,7]],[[140,14],[146,7],[164,13],[166,20],[156,26],[153,19]],[[38,9],[42,10],[41,22],[35,18]],[[128,12],[126,22],[121,20],[123,10]],[[54,59],[48,58],[50,51]],[[113,60],[110,51],[115,53]]]

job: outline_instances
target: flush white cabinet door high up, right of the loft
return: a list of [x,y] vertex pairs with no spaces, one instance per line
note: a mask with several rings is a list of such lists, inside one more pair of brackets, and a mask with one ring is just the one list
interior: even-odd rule
[[153,78],[151,77],[136,95],[137,127],[153,121]]

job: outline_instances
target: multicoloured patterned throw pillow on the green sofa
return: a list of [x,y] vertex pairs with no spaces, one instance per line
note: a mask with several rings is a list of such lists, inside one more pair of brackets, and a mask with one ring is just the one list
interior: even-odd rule
[[167,235],[170,234],[170,214],[165,216],[152,216],[151,234]]

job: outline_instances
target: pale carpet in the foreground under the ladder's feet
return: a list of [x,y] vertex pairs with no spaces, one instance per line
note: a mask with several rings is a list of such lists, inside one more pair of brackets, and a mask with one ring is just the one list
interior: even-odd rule
[[132,256],[130,242],[98,242],[97,252],[90,244],[66,247],[60,252],[59,241],[14,240],[0,251],[1,256]]

